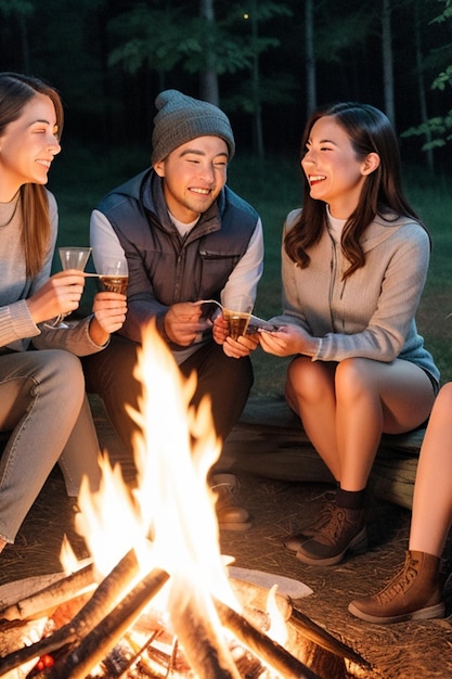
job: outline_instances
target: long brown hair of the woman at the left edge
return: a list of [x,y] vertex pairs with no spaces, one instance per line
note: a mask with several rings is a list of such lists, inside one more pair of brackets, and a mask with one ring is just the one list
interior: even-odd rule
[[[64,121],[60,94],[42,80],[17,73],[0,73],[0,137],[10,123],[21,117],[24,106],[37,93],[49,97],[55,107],[56,137],[60,141]],[[49,201],[41,184],[26,183],[20,191],[26,272],[33,278],[41,269],[49,247]]]

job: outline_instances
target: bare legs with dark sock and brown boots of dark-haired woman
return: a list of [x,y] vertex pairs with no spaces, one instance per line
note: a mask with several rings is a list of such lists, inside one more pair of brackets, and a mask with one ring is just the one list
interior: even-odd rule
[[328,522],[309,539],[306,533],[293,536],[287,546],[295,546],[304,563],[333,565],[348,550],[365,547],[364,490],[382,433],[398,434],[422,424],[435,393],[421,368],[399,359],[383,363],[352,358],[326,369],[296,359],[290,368],[287,400],[298,409],[340,488]]

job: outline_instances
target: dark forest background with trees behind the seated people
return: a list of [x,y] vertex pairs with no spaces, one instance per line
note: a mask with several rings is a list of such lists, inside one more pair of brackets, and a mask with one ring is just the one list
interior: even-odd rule
[[[385,111],[434,243],[418,326],[452,380],[452,0],[0,0],[0,69],[62,94],[49,188],[65,245],[86,244],[98,201],[148,165],[159,91],[220,105],[237,143],[229,184],[264,226],[266,317],[280,309],[281,228],[301,200],[307,116],[345,100]],[[255,354],[255,390],[281,393],[281,359]]]

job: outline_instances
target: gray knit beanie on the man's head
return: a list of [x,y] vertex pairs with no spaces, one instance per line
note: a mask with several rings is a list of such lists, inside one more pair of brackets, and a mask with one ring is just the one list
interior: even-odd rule
[[235,152],[234,134],[228,116],[218,106],[192,99],[178,90],[160,92],[155,105],[151,164],[154,165],[191,139],[212,134],[224,139],[229,159]]

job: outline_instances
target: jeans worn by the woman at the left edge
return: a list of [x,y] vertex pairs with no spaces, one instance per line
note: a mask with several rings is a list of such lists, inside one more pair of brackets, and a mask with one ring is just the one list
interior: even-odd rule
[[80,360],[61,349],[0,355],[0,537],[15,536],[57,462],[68,496],[99,487],[99,441]]

